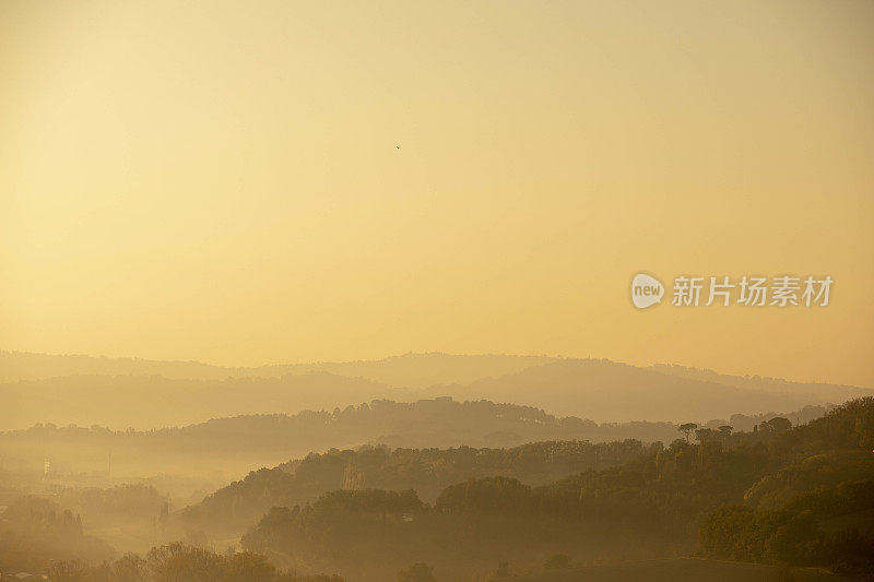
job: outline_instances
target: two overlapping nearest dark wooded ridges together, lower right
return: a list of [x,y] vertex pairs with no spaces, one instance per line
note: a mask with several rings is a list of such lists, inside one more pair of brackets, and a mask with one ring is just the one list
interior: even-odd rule
[[[568,582],[874,572],[874,399],[799,427],[763,423],[748,432],[699,431],[695,442],[611,444],[310,455],[253,473],[182,516],[246,521],[259,503],[279,503],[241,537],[244,548],[374,582],[413,562],[444,580],[477,580],[475,571],[492,572],[479,580],[534,572],[522,580]],[[456,483],[427,501],[441,479]],[[670,559],[693,554],[720,561]],[[787,565],[818,570],[808,577]]]

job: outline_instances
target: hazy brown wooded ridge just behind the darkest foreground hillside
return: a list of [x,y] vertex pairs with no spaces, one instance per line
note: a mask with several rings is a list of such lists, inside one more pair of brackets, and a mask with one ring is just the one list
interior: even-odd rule
[[539,485],[580,471],[621,465],[645,451],[638,440],[545,441],[512,449],[334,449],[252,472],[186,508],[180,519],[189,526],[236,531],[252,525],[273,506],[305,504],[333,489],[410,489],[434,502],[445,487],[470,478],[508,475]]

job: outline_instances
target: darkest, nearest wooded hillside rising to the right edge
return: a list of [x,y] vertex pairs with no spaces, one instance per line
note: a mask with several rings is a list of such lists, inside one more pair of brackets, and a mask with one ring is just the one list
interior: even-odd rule
[[[548,551],[584,562],[696,548],[725,559],[874,573],[874,538],[860,527],[874,511],[874,477],[834,487],[820,479],[847,470],[857,453],[871,454],[874,399],[799,428],[782,420],[761,423],[753,432],[698,429],[697,442],[677,439],[622,466],[542,486],[506,476],[473,478],[445,488],[433,506],[420,504],[412,491],[403,507],[369,490],[326,494],[314,503],[271,510],[244,545],[288,563],[357,571],[359,580],[379,580],[411,561],[459,580],[488,560],[524,562]],[[812,455],[834,463],[832,472],[807,474],[803,488],[814,492],[791,496],[776,511],[755,506],[765,479]]]

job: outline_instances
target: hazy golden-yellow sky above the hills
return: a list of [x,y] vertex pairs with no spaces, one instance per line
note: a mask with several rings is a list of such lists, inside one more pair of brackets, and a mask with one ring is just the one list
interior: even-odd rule
[[874,385],[874,2],[5,1],[0,129],[0,348]]

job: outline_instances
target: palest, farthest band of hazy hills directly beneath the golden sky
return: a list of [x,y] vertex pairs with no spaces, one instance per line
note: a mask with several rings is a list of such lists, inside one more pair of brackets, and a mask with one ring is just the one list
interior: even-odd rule
[[[294,414],[373,400],[451,396],[524,404],[599,423],[707,421],[841,403],[857,387],[742,378],[605,359],[408,354],[373,361],[222,368],[199,363],[2,353],[0,423],[114,429],[239,414]],[[61,375],[61,376],[58,376]],[[202,375],[197,377],[197,375]]]

